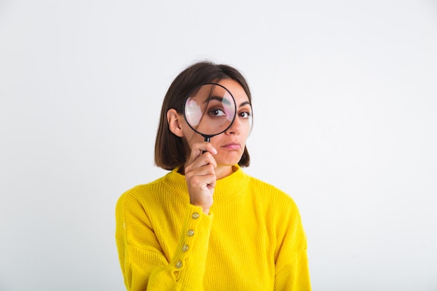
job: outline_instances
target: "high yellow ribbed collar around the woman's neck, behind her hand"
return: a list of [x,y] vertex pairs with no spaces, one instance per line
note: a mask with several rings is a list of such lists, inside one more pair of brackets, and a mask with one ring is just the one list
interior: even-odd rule
[[[214,203],[225,203],[227,201],[235,201],[235,198],[244,195],[251,177],[243,172],[243,170],[235,165],[235,170],[228,177],[217,180],[214,188]],[[177,172],[178,168],[172,170],[163,177],[163,184],[172,193],[188,197],[188,189],[186,187],[185,176]]]

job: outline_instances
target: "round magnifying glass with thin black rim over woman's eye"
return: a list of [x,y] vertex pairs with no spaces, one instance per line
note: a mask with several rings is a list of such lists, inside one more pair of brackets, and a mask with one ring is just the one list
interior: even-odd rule
[[200,84],[188,93],[184,102],[186,123],[202,135],[205,142],[228,130],[236,115],[234,96],[221,84]]

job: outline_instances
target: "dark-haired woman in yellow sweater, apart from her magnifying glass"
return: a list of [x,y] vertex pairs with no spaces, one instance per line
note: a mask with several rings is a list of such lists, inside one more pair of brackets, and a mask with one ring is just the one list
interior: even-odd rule
[[[205,142],[184,119],[199,84],[230,91],[237,116]],[[203,61],[163,101],[155,163],[170,170],[121,195],[116,241],[127,290],[311,290],[306,237],[292,199],[249,177],[251,92],[238,70]]]

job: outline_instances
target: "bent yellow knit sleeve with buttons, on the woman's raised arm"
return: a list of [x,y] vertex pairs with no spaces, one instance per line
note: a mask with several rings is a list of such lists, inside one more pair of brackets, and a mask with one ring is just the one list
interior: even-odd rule
[[203,290],[212,214],[188,204],[177,248],[168,260],[155,230],[134,197],[122,195],[116,207],[116,241],[128,291]]

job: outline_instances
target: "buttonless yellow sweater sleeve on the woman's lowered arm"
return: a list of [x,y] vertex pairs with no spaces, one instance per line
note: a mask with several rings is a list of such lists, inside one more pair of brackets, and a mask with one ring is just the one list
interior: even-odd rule
[[275,291],[310,291],[306,234],[297,207],[283,221],[276,257]]

